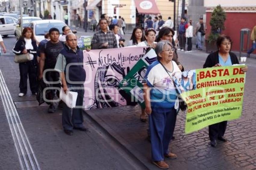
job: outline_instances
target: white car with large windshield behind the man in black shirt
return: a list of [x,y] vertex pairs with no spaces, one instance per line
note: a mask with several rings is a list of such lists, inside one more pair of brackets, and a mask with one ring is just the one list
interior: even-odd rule
[[[63,21],[60,20],[37,20],[32,21],[29,24],[29,27],[33,29],[36,41],[40,42],[45,39],[44,35],[51,28],[58,28],[60,35],[62,35],[62,27],[67,26]],[[73,33],[76,33],[75,30],[72,30]]]

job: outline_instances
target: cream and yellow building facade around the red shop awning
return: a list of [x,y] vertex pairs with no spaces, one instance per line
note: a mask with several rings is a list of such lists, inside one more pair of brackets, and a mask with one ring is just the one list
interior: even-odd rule
[[[139,1],[139,0],[137,0]],[[146,0],[145,0],[146,1]],[[153,14],[142,14],[138,11],[138,6],[136,6],[137,3],[135,3],[135,0],[89,0],[88,1],[88,11],[89,14],[94,14],[96,20],[99,19],[101,14],[108,14],[109,17],[113,16],[121,16],[125,19],[126,27],[135,27],[138,22],[142,22],[142,19],[138,19],[143,15],[143,19],[147,16],[151,16],[154,18],[155,16],[162,15],[163,20],[167,20],[168,17],[171,17],[172,20],[174,18],[174,3],[170,0],[153,0],[155,3],[153,5],[156,5],[159,14],[154,14],[154,11],[152,11]],[[187,10],[187,6],[189,4],[189,0],[186,0],[186,7],[185,10]],[[176,26],[177,21],[180,20],[181,17],[181,4],[182,0],[176,0]],[[180,11],[179,11],[180,10]],[[90,18],[90,17],[89,17]]]

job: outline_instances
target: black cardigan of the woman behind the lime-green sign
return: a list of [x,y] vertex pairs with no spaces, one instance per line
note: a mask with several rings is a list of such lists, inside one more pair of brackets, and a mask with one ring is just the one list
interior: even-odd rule
[[[232,64],[239,64],[236,54],[229,52],[230,59]],[[205,60],[203,68],[213,67],[214,65],[219,63],[219,51],[215,51],[208,55],[207,59]]]

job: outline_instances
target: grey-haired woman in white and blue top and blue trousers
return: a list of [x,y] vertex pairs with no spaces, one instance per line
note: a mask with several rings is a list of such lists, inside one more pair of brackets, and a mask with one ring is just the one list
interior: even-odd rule
[[177,116],[173,73],[180,72],[178,65],[172,61],[174,50],[170,41],[159,41],[155,48],[157,61],[148,66],[144,77],[145,113],[149,115],[152,161],[163,169],[169,168],[164,157],[177,157],[168,150]]

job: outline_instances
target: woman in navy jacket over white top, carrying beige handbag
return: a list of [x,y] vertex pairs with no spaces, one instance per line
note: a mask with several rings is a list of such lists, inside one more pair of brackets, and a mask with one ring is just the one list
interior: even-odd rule
[[30,61],[19,63],[20,68],[20,93],[22,97],[27,94],[27,77],[29,77],[30,90],[32,94],[37,92],[37,59],[36,59],[37,44],[31,28],[24,28],[21,38],[16,42],[13,52],[16,55],[30,54]]

